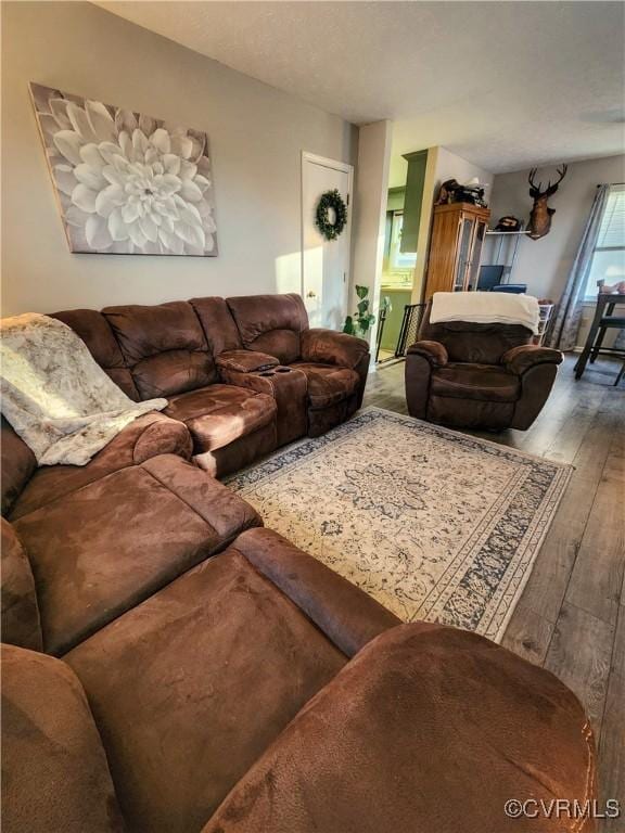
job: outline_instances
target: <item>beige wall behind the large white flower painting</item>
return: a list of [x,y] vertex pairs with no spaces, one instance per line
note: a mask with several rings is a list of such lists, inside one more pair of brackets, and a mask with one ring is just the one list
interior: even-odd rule
[[[2,2],[3,315],[299,289],[301,152],[354,164],[357,128],[82,2]],[[208,133],[219,256],[72,255],[36,81]]]

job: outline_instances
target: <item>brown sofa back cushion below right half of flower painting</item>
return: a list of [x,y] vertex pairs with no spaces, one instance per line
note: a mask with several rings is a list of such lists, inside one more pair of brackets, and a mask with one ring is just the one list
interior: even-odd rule
[[183,300],[102,310],[141,399],[209,385],[217,371],[193,307]]

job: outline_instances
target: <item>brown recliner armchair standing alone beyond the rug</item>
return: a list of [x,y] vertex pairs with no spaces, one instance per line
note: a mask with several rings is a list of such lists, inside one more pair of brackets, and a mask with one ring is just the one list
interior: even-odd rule
[[532,332],[521,324],[432,324],[429,305],[406,356],[408,412],[452,427],[525,431],[563,359],[531,342]]

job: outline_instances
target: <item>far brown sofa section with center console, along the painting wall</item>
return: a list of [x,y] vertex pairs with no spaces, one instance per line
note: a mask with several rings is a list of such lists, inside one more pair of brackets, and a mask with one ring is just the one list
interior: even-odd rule
[[362,401],[369,347],[310,330],[298,295],[192,298],[56,312],[135,400],[165,397],[187,425],[197,465],[221,476],[302,436],[318,436]]

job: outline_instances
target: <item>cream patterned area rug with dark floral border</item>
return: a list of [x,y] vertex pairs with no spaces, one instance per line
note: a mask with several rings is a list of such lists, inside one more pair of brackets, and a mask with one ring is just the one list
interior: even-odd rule
[[268,527],[404,621],[446,623],[498,641],[571,471],[368,408],[228,485]]

